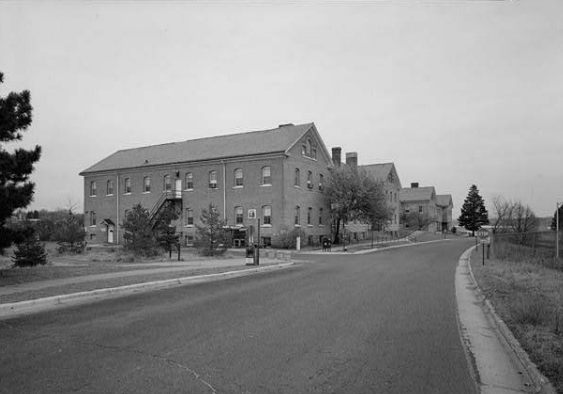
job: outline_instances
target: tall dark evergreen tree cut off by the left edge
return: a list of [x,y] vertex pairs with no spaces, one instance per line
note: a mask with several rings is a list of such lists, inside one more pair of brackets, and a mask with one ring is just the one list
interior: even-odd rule
[[[0,84],[4,75],[0,72]],[[41,147],[25,150],[21,148],[9,152],[2,146],[5,143],[20,141],[22,133],[31,124],[31,95],[28,90],[11,92],[0,97],[0,252],[14,240],[14,231],[6,226],[12,213],[31,203],[35,184],[29,181],[33,164],[41,156]]]

